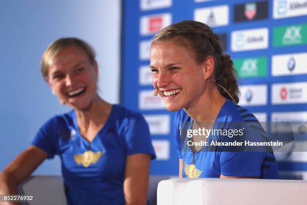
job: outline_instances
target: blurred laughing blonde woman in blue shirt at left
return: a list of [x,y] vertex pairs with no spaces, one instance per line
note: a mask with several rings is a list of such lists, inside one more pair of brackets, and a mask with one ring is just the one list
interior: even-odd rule
[[1,173],[0,192],[16,193],[46,158],[59,155],[68,204],[145,204],[150,158],[156,158],[148,125],[99,97],[93,49],[77,38],[58,39],[41,67],[52,92],[73,110],[40,128]]

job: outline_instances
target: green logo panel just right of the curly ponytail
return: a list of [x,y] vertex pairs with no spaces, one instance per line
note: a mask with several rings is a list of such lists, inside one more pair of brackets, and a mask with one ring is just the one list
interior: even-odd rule
[[261,77],[267,75],[267,58],[237,58],[233,64],[239,77]]

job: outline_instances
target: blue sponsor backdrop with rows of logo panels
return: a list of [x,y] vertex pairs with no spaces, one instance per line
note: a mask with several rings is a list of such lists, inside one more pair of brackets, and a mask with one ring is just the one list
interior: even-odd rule
[[[307,121],[307,0],[123,2],[122,94],[124,106],[149,124],[158,160],[151,174],[178,174],[175,113],[152,95],[150,39],[182,20],[210,25],[240,76],[240,105],[259,121]],[[307,154],[276,154],[282,177],[305,178]]]

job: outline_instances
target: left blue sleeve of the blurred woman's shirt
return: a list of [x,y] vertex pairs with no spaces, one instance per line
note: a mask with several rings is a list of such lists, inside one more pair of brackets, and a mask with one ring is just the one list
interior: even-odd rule
[[56,118],[52,118],[40,128],[31,144],[47,152],[51,159],[57,153],[56,139]]

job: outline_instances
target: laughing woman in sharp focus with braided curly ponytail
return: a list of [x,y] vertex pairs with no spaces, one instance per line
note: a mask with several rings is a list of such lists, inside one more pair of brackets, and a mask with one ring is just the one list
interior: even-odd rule
[[244,144],[237,149],[212,145],[246,139],[251,129],[243,128],[243,136],[237,138],[230,133],[226,137],[210,133],[221,128],[240,130],[242,122],[260,126],[253,137],[265,133],[261,133],[264,131],[257,119],[237,105],[236,71],[218,36],[207,25],[182,21],[159,32],[151,43],[150,69],[154,94],[159,93],[167,110],[177,111],[180,177],[277,178],[270,150],[246,151]]

